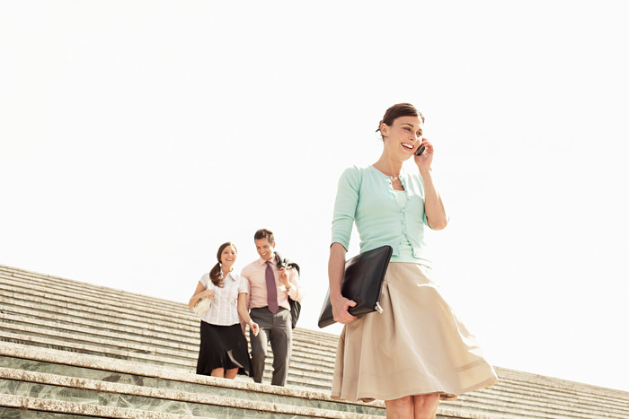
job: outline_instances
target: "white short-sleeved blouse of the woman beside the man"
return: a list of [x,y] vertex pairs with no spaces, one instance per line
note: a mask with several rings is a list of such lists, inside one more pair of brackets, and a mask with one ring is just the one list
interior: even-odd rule
[[201,316],[201,320],[217,326],[231,326],[240,323],[238,294],[241,292],[249,293],[249,281],[234,270],[226,275],[223,280],[223,288],[212,283],[212,280],[209,279],[209,273],[201,276],[199,282],[206,289],[209,288],[214,292],[209,310]]

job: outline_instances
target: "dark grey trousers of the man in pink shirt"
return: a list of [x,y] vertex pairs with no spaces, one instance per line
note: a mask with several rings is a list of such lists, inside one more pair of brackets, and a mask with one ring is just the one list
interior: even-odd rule
[[251,310],[252,320],[260,326],[258,336],[250,333],[252,345],[253,380],[262,382],[264,360],[267,356],[267,343],[273,351],[273,386],[284,386],[288,377],[288,364],[293,347],[293,328],[290,325],[290,311],[282,307],[272,314],[267,307]]

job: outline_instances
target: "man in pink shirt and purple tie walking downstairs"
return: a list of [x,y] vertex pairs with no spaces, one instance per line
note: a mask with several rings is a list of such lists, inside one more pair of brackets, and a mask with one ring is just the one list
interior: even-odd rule
[[297,269],[277,266],[272,232],[258,230],[253,241],[260,258],[244,266],[240,273],[249,281],[251,318],[260,327],[258,336],[250,334],[253,380],[262,382],[267,342],[270,342],[273,351],[273,379],[270,383],[284,386],[293,343],[288,296],[295,301],[302,300],[299,274]]

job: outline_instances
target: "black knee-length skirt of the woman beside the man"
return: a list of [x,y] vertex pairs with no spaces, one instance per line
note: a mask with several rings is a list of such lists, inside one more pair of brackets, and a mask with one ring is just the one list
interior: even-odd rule
[[216,368],[238,368],[239,374],[250,375],[251,358],[240,324],[217,326],[201,320],[200,328],[197,374],[210,375]]

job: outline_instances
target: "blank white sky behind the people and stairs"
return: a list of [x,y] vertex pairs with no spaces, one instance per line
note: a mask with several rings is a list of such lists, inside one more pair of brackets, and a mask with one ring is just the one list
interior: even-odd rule
[[628,10],[4,1],[0,264],[187,302],[266,227],[316,329],[337,179],[411,101],[451,216],[436,277],[490,361],[629,390]]

